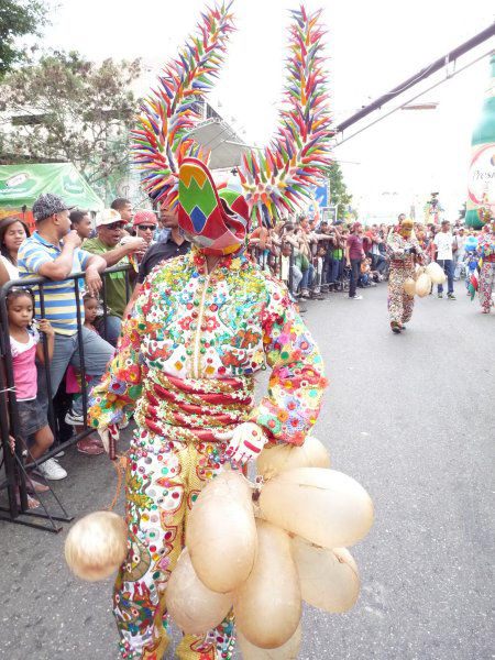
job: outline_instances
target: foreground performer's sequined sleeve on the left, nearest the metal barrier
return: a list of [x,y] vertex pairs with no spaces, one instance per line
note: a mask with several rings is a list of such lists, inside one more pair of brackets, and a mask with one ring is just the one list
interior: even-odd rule
[[122,323],[116,355],[101,382],[91,391],[88,422],[94,428],[103,429],[129,419],[141,396],[145,370],[141,360],[141,339],[146,327],[143,306],[147,295],[146,292],[138,298],[132,317]]

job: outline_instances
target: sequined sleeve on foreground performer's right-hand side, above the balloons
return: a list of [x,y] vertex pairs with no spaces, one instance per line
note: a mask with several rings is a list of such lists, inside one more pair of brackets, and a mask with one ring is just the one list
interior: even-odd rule
[[268,394],[249,421],[263,427],[271,442],[302,444],[317,420],[327,386],[323,361],[287,289],[277,280],[268,279],[267,286],[262,323],[272,374]]

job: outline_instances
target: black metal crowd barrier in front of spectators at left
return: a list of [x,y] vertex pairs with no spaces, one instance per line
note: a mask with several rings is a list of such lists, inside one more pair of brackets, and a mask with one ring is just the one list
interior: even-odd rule
[[[107,339],[107,286],[106,279],[107,276],[111,273],[125,272],[125,293],[127,299],[130,297],[130,283],[129,283],[129,273],[130,266],[113,266],[111,268],[107,268],[105,273],[101,274],[102,279],[102,288],[100,292],[100,298],[102,299],[102,308],[103,308],[103,339]],[[52,388],[51,376],[50,376],[50,360],[48,360],[48,346],[46,342],[46,336],[42,332],[42,342],[43,350],[45,355],[45,364],[38,365],[38,369],[44,369],[44,375],[46,378],[47,385],[47,395],[48,395],[48,414],[47,421],[52,428],[54,435],[54,443],[50,451],[47,451],[43,457],[30,463],[30,470],[35,469],[41,463],[44,463],[52,457],[56,455],[61,450],[69,448],[74,446],[76,442],[89,436],[92,430],[88,428],[87,421],[87,413],[88,413],[88,393],[87,393],[87,384],[86,384],[86,370],[85,370],[85,359],[84,359],[84,344],[82,344],[82,333],[81,333],[81,297],[80,293],[80,279],[84,279],[84,273],[75,273],[70,274],[66,279],[73,279],[75,286],[75,297],[76,297],[76,309],[77,309],[77,337],[78,337],[78,348],[79,348],[79,373],[80,373],[80,387],[82,395],[82,430],[78,433],[73,435],[68,440],[61,441],[61,428],[58,425],[58,420],[55,417],[55,410],[53,405],[53,395],[55,394]],[[28,447],[24,444],[24,439],[21,437],[20,432],[20,420],[18,413],[18,402],[15,397],[15,384],[13,377],[13,367],[12,367],[12,354],[10,351],[10,340],[9,340],[9,323],[7,316],[7,295],[10,290],[14,288],[29,288],[33,293],[36,292],[40,297],[40,314],[41,318],[45,317],[45,295],[44,295],[44,285],[48,282],[53,282],[46,279],[44,277],[35,277],[35,278],[24,278],[24,279],[12,279],[4,284],[0,289],[0,322],[1,322],[1,333],[0,333],[0,433],[1,433],[1,449],[2,449],[2,463],[4,466],[6,476],[0,479],[0,492],[7,490],[8,494],[8,507],[0,506],[0,520],[7,520],[9,522],[16,522],[20,525],[26,525],[29,527],[34,527],[37,529],[45,529],[48,531],[57,532],[62,529],[61,526],[56,525],[56,521],[70,521],[73,519],[72,516],[67,514],[65,510],[61,499],[56,495],[56,493],[52,490],[50,494],[54,497],[59,510],[61,515],[52,514],[47,505],[44,501],[44,497],[48,495],[48,493],[36,493],[36,498],[40,501],[42,510],[31,510],[28,507],[28,483],[30,481],[30,476],[25,470],[24,465],[24,457],[26,455]],[[64,382],[64,380],[62,381]],[[15,440],[15,449],[11,450],[10,447],[10,438],[12,436]],[[48,484],[50,485],[50,484]],[[19,492],[19,502],[18,502],[18,492]],[[41,518],[46,521],[46,524],[38,524],[33,521],[33,519]]]

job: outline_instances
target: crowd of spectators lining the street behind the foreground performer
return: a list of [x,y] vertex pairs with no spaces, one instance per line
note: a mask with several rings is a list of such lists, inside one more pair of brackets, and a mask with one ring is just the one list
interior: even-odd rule
[[[61,198],[42,195],[33,206],[33,216],[36,231],[31,237],[28,227],[18,217],[0,221],[0,285],[9,279],[32,276],[43,276],[48,280],[43,285],[43,320],[38,287],[33,285],[23,289],[35,300],[31,317],[38,319],[38,330],[47,337],[50,334],[53,344],[50,365],[46,366],[50,370],[50,389],[42,360],[37,363],[37,417],[43,417],[46,426],[48,397],[63,389],[72,403],[58,422],[69,425],[78,432],[82,429],[85,414],[80,348],[84,349],[84,387],[88,392],[91,384],[101,377],[113,354],[122,318],[131,309],[145,277],[158,263],[187,252],[190,244],[178,229],[176,213],[164,209],[158,217],[152,210],[133,213],[131,202],[123,198],[116,199],[111,208],[98,213],[94,220],[88,211],[69,209]],[[360,299],[359,288],[377,286],[386,280],[389,261],[386,245],[391,231],[395,231],[394,226],[364,227],[361,222],[329,224],[305,217],[292,218],[272,229],[255,229],[250,235],[248,251],[262,268],[287,284],[300,311],[305,311],[304,299],[323,300],[338,292]],[[473,231],[459,223],[451,228],[443,222],[440,226],[416,223],[415,233],[425,253],[444,267],[451,297],[453,280],[465,273],[469,255],[464,244]],[[107,273],[103,284],[101,274],[112,266],[125,268]],[[85,274],[84,279],[67,279],[77,272]],[[77,295],[80,328],[77,323]],[[13,296],[13,299],[18,297]],[[29,296],[23,304],[29,307]],[[9,298],[7,305],[10,319],[14,310],[10,310]],[[21,305],[19,300],[16,305]],[[25,315],[29,316],[28,312]],[[28,324],[31,328],[31,320]],[[21,326],[13,323],[11,328],[9,321],[11,344],[16,346],[15,377],[22,372],[20,363],[15,363],[23,354],[19,349],[22,344],[19,338],[24,337]],[[18,339],[12,333],[16,333]],[[31,336],[30,342],[25,345],[31,350]],[[41,355],[38,348],[36,351],[36,355]],[[38,458],[40,442],[36,444],[35,433],[28,438],[25,429],[24,436],[26,448],[31,448],[29,462]],[[50,446],[47,441],[45,444]],[[87,455],[103,451],[95,436],[80,439],[77,449]],[[48,480],[67,476],[56,458],[40,464],[37,474]],[[36,492],[43,492],[43,485],[36,485]]]

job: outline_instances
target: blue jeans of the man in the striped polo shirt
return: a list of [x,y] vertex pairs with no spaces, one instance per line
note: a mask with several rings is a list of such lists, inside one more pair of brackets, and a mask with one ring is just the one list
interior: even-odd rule
[[[113,346],[111,346],[99,334],[81,328],[82,350],[85,354],[86,366],[86,389],[89,394],[105,373],[107,363],[113,355]],[[58,334],[55,332],[55,341],[53,346],[53,358],[50,364],[50,381],[52,396],[55,396],[58,385],[64,377],[67,366],[72,364],[77,371],[80,370],[79,361],[79,343],[77,332],[75,334]],[[46,389],[45,369],[38,365],[37,370],[37,399],[45,413],[48,410],[48,393]],[[82,415],[82,397],[77,397],[74,402],[74,413]]]

